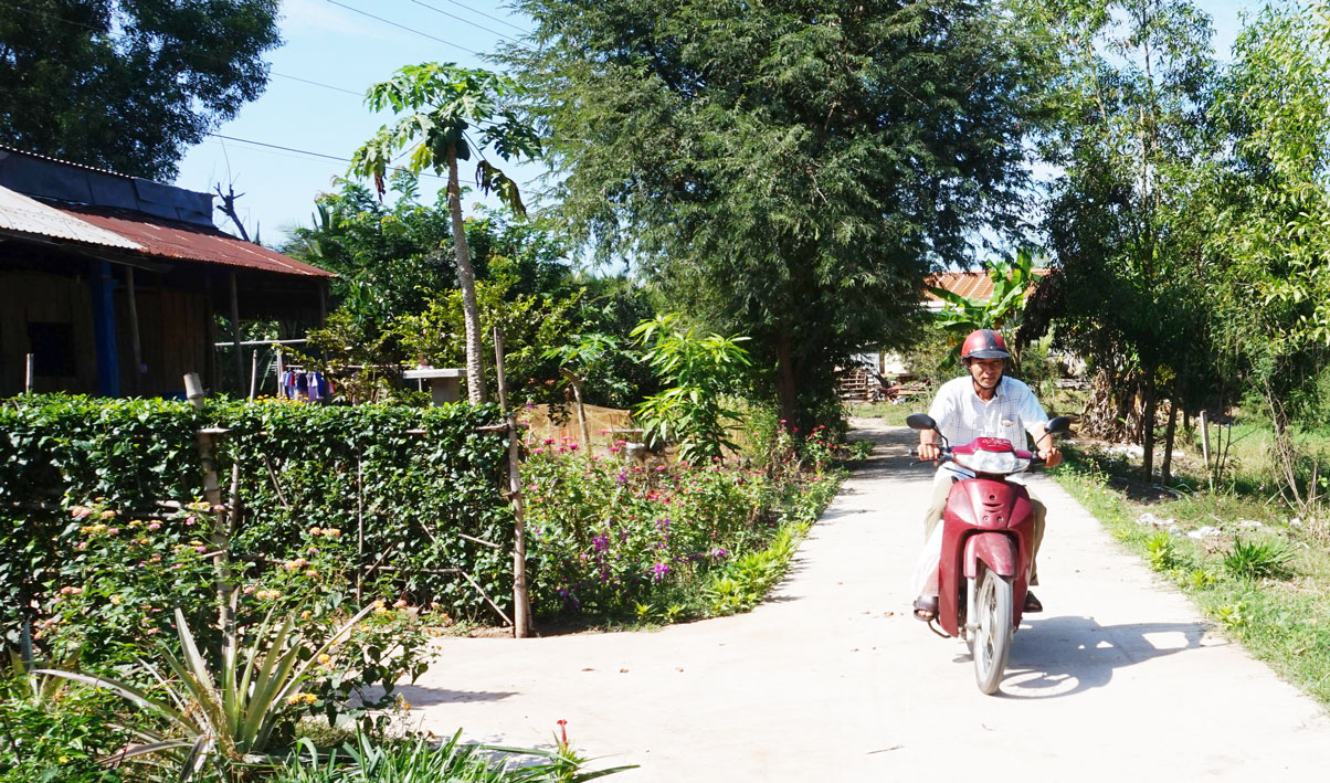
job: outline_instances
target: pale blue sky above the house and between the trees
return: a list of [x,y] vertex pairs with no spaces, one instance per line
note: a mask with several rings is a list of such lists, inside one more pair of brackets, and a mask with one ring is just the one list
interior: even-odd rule
[[[1214,19],[1221,58],[1240,29],[1240,9],[1261,5],[1246,0],[1197,4]],[[265,245],[279,243],[287,229],[311,223],[315,195],[331,190],[332,178],[346,171],[346,162],[329,157],[348,158],[388,120],[364,108],[370,84],[407,64],[493,68],[477,53],[493,52],[503,40],[531,28],[529,20],[495,0],[283,0],[282,16],[286,43],[269,55],[267,90],[218,128],[217,136],[193,148],[176,179],[190,190],[211,191],[221,183],[223,190],[230,185],[242,193],[241,217],[251,234],[259,227]],[[509,173],[531,191],[540,171],[528,164]],[[422,181],[423,193],[431,186],[442,187],[443,181]],[[468,198],[468,207],[476,201]],[[221,214],[215,219],[234,233]]]

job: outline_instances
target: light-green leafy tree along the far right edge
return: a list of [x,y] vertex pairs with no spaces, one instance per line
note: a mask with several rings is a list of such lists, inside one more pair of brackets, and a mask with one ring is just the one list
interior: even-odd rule
[[1267,7],[1238,36],[1217,106],[1233,144],[1212,259],[1217,351],[1265,399],[1289,500],[1318,510],[1290,424],[1330,359],[1330,15]]

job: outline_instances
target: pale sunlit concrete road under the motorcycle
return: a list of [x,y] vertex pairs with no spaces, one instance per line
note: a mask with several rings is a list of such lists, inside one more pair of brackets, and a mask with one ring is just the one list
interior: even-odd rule
[[931,471],[879,445],[753,613],[656,633],[446,639],[406,689],[436,734],[549,744],[556,721],[612,780],[1325,780],[1330,718],[1202,622],[1065,492],[1043,614],[982,695],[964,645],[910,615]]

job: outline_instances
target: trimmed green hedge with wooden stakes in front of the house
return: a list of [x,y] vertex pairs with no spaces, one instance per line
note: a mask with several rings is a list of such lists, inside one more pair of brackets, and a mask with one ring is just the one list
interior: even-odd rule
[[[194,431],[210,424],[230,429],[221,440],[222,476],[241,467],[245,510],[231,549],[234,561],[253,564],[245,580],[255,593],[277,590],[291,601],[318,594],[319,606],[306,609],[321,612],[335,586],[359,585],[390,604],[410,598],[462,618],[487,614],[469,582],[431,572],[463,569],[500,605],[508,601],[509,560],[458,536],[500,546],[512,536],[497,496],[504,439],[476,431],[496,419],[493,408],[469,405],[214,401],[198,413],[162,400],[16,399],[0,408],[0,572],[11,585],[0,596],[4,630],[15,638],[24,618],[48,619],[33,608],[60,606],[64,588],[85,590],[65,593],[68,606],[105,613],[108,635],[98,638],[106,643],[112,630],[157,627],[141,622],[145,614],[169,615],[174,606],[205,625],[196,610],[206,577],[196,565],[197,548],[210,545],[200,534],[210,517],[188,504],[202,496]],[[182,501],[190,513],[164,516],[160,500]],[[65,504],[97,510],[72,518]],[[114,516],[100,518],[105,512]],[[302,557],[317,576],[279,568]],[[360,572],[384,562],[402,570]],[[309,584],[291,594],[298,574]]]

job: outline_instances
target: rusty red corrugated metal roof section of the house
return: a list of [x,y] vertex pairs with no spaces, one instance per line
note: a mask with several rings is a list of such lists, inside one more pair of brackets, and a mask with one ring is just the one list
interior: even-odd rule
[[282,255],[262,245],[237,239],[213,227],[94,206],[65,203],[52,203],[51,206],[137,242],[144,254],[154,258],[217,263],[287,275],[336,277],[317,266]]

